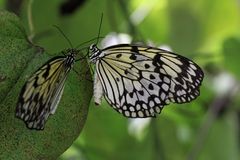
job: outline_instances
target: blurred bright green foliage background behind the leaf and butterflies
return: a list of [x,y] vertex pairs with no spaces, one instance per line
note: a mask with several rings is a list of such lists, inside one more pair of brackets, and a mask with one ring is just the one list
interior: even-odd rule
[[[29,2],[0,0],[0,7],[20,16],[30,35]],[[101,36],[124,34],[134,42],[168,46],[205,72],[197,100],[166,106],[156,119],[129,120],[106,102],[99,107],[91,103],[84,130],[60,160],[240,159],[239,1],[32,2],[33,42],[49,53],[69,47],[52,25],[76,46],[97,36],[103,13]]]

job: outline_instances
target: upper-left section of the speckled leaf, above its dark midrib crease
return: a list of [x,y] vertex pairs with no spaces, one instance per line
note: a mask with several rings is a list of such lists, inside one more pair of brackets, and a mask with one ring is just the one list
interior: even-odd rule
[[34,56],[36,48],[31,47],[27,41],[26,33],[16,16],[0,12],[0,17],[0,101],[2,101],[27,62]]

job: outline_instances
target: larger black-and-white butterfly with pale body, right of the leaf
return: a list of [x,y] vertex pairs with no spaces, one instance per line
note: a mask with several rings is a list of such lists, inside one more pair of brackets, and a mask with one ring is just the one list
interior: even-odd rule
[[155,117],[170,102],[196,99],[204,73],[193,61],[156,47],[119,44],[89,47],[95,64],[94,101],[102,96],[129,118]]

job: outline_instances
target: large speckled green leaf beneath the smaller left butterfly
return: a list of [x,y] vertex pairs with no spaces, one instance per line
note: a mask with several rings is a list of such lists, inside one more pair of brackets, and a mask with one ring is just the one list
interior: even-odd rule
[[29,130],[15,118],[18,95],[26,79],[50,57],[28,41],[14,14],[1,11],[0,28],[0,159],[57,159],[79,136],[87,117],[92,95],[88,65],[75,63],[82,74],[69,74],[58,109],[45,129]]

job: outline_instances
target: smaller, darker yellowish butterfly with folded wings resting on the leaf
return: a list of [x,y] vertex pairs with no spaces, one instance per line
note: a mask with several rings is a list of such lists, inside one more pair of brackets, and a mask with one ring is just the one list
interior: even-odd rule
[[62,51],[47,61],[26,81],[16,107],[16,117],[22,119],[29,129],[43,130],[49,115],[54,114],[64,90],[77,49]]

